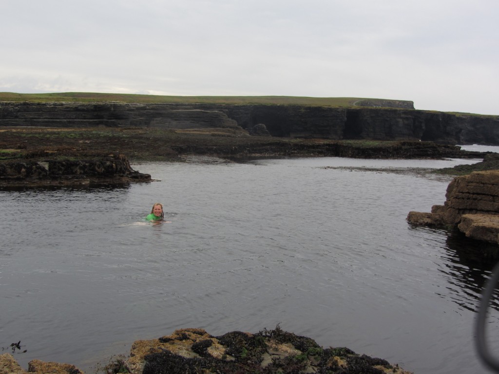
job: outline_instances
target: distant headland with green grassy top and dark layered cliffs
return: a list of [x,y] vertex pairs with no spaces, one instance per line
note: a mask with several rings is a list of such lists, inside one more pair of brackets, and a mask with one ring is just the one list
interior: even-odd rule
[[0,127],[16,126],[222,128],[281,138],[499,145],[499,116],[369,98],[0,93]]

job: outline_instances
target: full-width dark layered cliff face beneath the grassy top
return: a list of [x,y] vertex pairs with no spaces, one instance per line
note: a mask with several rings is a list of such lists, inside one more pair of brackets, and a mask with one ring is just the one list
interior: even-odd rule
[[0,126],[243,128],[271,136],[499,145],[499,116],[302,105],[0,103]]

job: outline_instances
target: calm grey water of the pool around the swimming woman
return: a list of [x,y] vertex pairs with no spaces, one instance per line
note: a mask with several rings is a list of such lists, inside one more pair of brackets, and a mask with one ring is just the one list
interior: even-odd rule
[[[158,181],[0,191],[0,345],[20,340],[25,369],[37,358],[91,373],[178,328],[280,323],[417,374],[487,373],[473,323],[494,262],[408,225],[410,210],[444,202],[450,179],[400,169],[474,162],[144,164],[134,169]],[[172,223],[143,221],[156,201]]]

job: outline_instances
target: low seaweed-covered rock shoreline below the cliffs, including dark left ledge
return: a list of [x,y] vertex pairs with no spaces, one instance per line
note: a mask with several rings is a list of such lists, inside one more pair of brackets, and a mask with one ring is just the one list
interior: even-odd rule
[[0,128],[0,187],[89,186],[147,182],[130,162],[282,157],[376,159],[484,158],[458,146],[250,136],[230,129]]

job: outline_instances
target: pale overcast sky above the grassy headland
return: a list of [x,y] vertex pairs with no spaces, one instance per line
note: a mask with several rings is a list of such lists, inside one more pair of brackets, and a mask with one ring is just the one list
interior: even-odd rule
[[499,115],[498,0],[0,0],[0,92],[359,97]]

